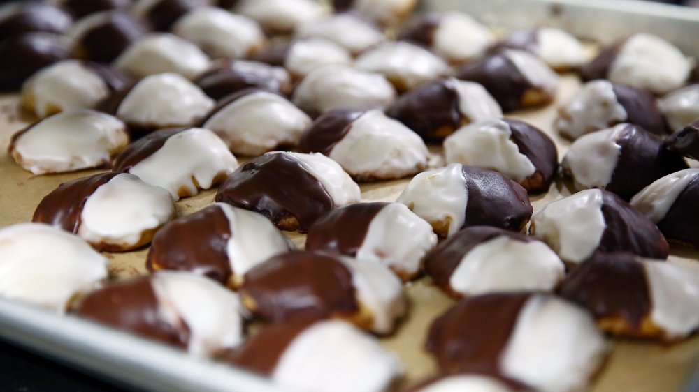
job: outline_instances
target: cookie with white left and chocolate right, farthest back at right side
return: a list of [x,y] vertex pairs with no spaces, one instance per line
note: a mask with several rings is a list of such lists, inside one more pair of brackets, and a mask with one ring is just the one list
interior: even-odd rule
[[618,123],[632,123],[656,135],[668,132],[663,114],[651,93],[609,80],[584,84],[559,107],[554,128],[561,135],[575,140]]

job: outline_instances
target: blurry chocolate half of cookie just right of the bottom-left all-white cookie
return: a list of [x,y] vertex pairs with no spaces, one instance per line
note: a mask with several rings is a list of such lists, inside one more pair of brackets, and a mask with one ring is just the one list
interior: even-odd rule
[[160,315],[151,279],[142,276],[92,292],[82,300],[77,313],[124,331],[185,347],[189,328],[184,320],[180,320],[180,328],[175,328]]

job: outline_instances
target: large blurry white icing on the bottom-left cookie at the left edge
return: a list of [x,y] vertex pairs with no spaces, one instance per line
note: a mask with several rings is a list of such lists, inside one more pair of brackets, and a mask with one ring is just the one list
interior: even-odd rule
[[80,237],[43,223],[0,229],[0,296],[63,313],[107,277],[107,259]]

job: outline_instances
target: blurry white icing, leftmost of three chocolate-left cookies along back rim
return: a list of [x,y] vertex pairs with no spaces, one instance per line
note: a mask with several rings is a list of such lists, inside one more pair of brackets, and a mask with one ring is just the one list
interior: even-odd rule
[[490,30],[465,13],[450,12],[441,16],[432,46],[449,61],[463,62],[482,56],[495,37]]

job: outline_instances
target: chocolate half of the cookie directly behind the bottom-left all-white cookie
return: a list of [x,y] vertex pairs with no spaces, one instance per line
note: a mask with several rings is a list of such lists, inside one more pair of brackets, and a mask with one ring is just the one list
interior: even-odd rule
[[62,183],[46,195],[34,211],[32,222],[48,223],[77,233],[80,215],[95,190],[120,173],[106,172]]

